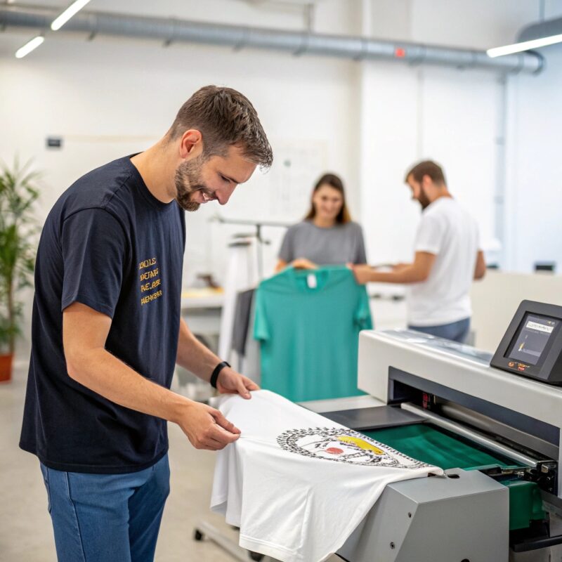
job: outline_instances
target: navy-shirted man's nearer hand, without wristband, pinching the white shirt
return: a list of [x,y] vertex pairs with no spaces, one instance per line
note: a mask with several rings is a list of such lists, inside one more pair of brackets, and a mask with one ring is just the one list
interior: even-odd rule
[[240,429],[215,408],[190,402],[176,420],[196,449],[218,451],[240,437]]

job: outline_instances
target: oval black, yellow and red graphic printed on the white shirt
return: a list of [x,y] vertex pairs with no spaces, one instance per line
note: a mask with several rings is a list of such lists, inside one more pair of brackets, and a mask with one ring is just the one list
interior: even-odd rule
[[314,459],[393,469],[431,467],[351,429],[292,429],[277,437],[277,443],[285,451]]

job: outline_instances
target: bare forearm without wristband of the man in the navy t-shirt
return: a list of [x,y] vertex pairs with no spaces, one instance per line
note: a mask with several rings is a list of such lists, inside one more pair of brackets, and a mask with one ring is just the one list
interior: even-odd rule
[[81,353],[77,366],[67,365],[70,377],[107,400],[144,414],[178,422],[192,400],[138,374],[104,348]]

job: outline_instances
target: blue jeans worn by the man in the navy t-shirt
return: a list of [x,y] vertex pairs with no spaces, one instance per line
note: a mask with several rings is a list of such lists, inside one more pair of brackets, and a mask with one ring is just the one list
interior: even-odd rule
[[150,562],[170,491],[168,455],[128,474],[86,474],[41,463],[59,562]]

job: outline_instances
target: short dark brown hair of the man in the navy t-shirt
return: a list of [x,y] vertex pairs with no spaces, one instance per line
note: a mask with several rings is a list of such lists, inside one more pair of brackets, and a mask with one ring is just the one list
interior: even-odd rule
[[204,86],[180,108],[167,135],[176,140],[189,129],[203,138],[203,154],[225,156],[231,145],[240,146],[250,162],[267,169],[273,162],[266,133],[246,96],[232,88]]

